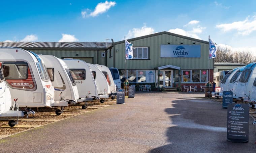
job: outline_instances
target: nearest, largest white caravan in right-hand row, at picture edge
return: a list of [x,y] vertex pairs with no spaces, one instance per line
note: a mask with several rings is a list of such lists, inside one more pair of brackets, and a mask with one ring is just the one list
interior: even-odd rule
[[256,77],[256,63],[250,63],[243,69],[239,81],[236,84],[234,93],[237,97],[247,97],[250,99],[253,82]]

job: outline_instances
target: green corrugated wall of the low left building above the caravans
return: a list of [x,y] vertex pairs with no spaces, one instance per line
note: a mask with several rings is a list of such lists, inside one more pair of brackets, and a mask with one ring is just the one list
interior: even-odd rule
[[[101,53],[105,52],[102,50],[30,50],[36,54],[43,54],[43,55],[54,55],[58,58],[63,57],[93,57],[94,64],[105,65],[105,57],[101,57]],[[98,58],[97,58],[98,52]],[[78,56],[76,56],[76,54]]]

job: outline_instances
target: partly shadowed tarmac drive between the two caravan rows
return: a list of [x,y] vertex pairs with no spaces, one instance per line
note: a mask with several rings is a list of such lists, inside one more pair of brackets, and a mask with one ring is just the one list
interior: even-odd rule
[[0,153],[256,153],[226,141],[227,110],[204,94],[140,93],[111,105],[0,139]]

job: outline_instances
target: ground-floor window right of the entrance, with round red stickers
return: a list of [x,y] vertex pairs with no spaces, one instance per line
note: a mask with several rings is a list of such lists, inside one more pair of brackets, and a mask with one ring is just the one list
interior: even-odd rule
[[207,82],[208,70],[182,70],[183,83]]

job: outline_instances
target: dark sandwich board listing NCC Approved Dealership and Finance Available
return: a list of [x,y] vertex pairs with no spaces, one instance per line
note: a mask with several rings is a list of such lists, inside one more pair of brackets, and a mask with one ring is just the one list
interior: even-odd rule
[[248,104],[228,104],[227,141],[236,143],[249,141]]

